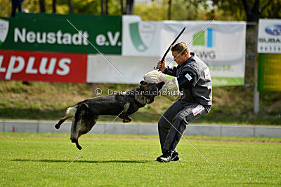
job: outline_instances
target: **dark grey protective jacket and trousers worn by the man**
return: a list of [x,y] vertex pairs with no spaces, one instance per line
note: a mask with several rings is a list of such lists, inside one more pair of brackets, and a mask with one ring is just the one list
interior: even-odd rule
[[[177,67],[165,69],[164,74],[185,76],[189,84],[180,85],[183,96],[165,111],[158,121],[159,139],[164,151],[176,151],[186,125],[195,118],[199,118],[211,110],[211,75],[209,68],[195,53]],[[190,76],[192,75],[192,76]]]

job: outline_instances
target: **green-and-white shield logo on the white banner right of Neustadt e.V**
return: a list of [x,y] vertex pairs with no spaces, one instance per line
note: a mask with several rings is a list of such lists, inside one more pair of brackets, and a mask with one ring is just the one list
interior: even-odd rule
[[129,25],[131,41],[139,52],[148,50],[155,38],[156,24],[149,22],[133,22]]

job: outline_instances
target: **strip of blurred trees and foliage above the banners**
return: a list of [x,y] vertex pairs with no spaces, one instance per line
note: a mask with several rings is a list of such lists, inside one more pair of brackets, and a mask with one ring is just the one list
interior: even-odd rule
[[[0,16],[11,15],[11,3],[1,0]],[[136,0],[135,0],[136,1]],[[244,20],[281,18],[280,0],[25,0],[22,10],[29,13],[141,15],[143,20]]]

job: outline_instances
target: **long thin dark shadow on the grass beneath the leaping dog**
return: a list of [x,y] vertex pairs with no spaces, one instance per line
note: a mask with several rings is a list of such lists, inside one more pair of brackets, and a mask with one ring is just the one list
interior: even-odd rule
[[[31,159],[13,159],[11,161],[14,162],[50,162],[50,163],[56,163],[56,162],[68,162],[70,163],[72,160],[31,160]],[[75,160],[74,162],[81,162],[81,163],[147,163],[150,162],[150,160],[102,160],[102,161],[96,161],[96,160]]]

